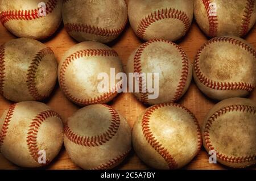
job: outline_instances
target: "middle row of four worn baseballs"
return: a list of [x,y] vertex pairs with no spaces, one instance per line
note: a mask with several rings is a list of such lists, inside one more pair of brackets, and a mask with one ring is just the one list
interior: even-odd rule
[[[154,99],[148,98],[151,93],[143,77],[130,83],[130,87],[134,82],[138,85],[139,92],[134,94],[144,104],[179,100],[187,91],[192,74],[205,95],[223,100],[246,96],[254,90],[255,61],[256,51],[245,40],[215,37],[199,49],[192,70],[181,47],[155,39],[143,43],[131,54],[126,73],[159,74],[158,97]],[[122,81],[126,84],[122,78],[109,83],[111,69],[115,69],[115,75],[123,72],[121,60],[113,49],[94,41],[67,50],[57,71],[54,53],[46,45],[32,39],[11,40],[0,47],[0,68],[0,94],[13,102],[46,99],[55,87],[56,77],[67,98],[81,106],[108,103],[125,86]],[[98,90],[101,73],[108,75],[112,86],[106,92]]]

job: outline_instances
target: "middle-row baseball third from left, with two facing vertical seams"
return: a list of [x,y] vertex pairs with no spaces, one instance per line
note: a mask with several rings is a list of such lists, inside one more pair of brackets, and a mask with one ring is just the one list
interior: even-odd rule
[[155,99],[148,97],[151,93],[142,79],[134,81],[140,88],[134,95],[144,104],[152,105],[180,99],[191,83],[192,65],[181,47],[168,40],[155,39],[142,44],[131,54],[127,73],[159,73],[159,96]]

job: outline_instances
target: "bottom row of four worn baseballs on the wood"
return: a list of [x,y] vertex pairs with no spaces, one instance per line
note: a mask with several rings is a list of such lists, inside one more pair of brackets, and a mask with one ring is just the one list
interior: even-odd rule
[[[0,151],[22,167],[46,166],[59,153],[64,136],[65,149],[76,165],[112,169],[129,154],[132,142],[148,166],[179,169],[199,153],[203,137],[205,150],[214,151],[217,162],[248,167],[256,163],[255,114],[256,104],[250,99],[226,99],[209,111],[201,132],[187,108],[176,103],[157,104],[139,117],[131,134],[127,121],[106,104],[81,108],[63,129],[59,114],[46,104],[20,102],[11,105],[0,119]],[[232,135],[226,135],[227,129]]]

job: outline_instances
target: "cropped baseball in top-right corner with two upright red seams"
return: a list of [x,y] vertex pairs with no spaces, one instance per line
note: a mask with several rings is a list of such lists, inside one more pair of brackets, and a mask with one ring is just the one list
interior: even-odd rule
[[195,18],[209,36],[245,36],[256,22],[256,0],[195,0]]

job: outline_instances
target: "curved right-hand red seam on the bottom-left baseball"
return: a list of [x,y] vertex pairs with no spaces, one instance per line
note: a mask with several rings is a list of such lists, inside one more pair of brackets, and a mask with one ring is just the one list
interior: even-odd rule
[[[39,158],[39,145],[37,143],[37,137],[38,137],[38,131],[40,125],[43,124],[46,119],[49,117],[57,117],[61,120],[61,117],[58,113],[52,110],[48,111],[43,111],[39,113],[30,123],[30,128],[28,129],[27,132],[27,146],[30,151],[31,157],[38,163],[38,158]],[[50,162],[50,160],[47,158],[46,159],[46,165]]]

